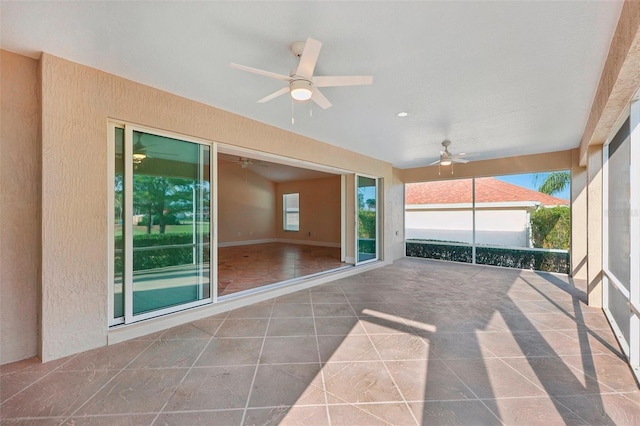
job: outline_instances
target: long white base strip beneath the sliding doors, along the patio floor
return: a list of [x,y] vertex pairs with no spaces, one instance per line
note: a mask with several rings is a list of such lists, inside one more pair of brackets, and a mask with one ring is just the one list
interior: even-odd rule
[[352,275],[360,274],[369,270],[386,266],[385,262],[368,263],[363,266],[353,266],[342,268],[336,272],[328,272],[322,276],[305,279],[293,284],[278,286],[265,291],[259,291],[251,295],[245,295],[237,298],[230,298],[215,304],[208,304],[197,308],[191,308],[180,312],[172,313],[162,317],[156,317],[133,324],[112,327],[107,334],[107,344],[113,345],[124,342],[126,340],[142,337],[147,334],[166,330],[170,327],[186,324],[195,320],[227,312],[232,309],[241,308],[257,302],[273,299],[274,297],[284,296],[299,290],[305,290],[320,284],[325,284],[337,279],[346,278]]

